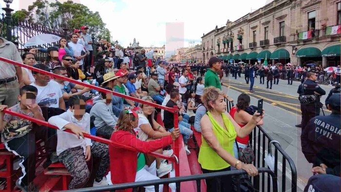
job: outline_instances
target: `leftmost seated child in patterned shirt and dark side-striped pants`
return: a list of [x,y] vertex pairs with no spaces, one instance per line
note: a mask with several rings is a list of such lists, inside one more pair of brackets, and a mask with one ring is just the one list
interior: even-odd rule
[[[20,89],[19,103],[10,108],[11,111],[45,121],[41,109],[36,102],[38,89],[25,85]],[[56,151],[57,140],[47,137],[47,127],[38,126],[29,120],[17,116],[3,114],[6,105],[0,105],[1,141],[8,151],[22,158],[20,162],[21,175],[16,183],[25,192],[38,190],[33,180],[36,173],[36,141],[44,140],[45,150],[49,155]],[[49,159],[48,159],[49,160]]]

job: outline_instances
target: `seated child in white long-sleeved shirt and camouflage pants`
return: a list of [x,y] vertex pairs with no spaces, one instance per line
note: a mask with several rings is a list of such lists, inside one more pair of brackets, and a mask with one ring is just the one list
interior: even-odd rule
[[[49,123],[59,128],[57,155],[59,161],[71,173],[69,189],[79,189],[86,184],[90,177],[86,162],[91,159],[92,155],[101,159],[99,168],[96,170],[94,187],[108,185],[107,181],[103,180],[110,165],[108,145],[83,136],[83,134],[90,133],[90,115],[85,113],[85,97],[71,96],[68,111],[51,117]],[[62,131],[64,129],[70,129],[74,134]]]

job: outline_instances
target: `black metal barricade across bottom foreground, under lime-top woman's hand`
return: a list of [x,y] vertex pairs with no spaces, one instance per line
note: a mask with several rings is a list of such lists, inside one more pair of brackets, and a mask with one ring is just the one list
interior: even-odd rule
[[[267,168],[258,168],[258,172],[263,175],[267,174],[268,180],[272,181],[272,189],[268,192],[277,192],[277,177],[275,174],[267,169]],[[190,176],[181,176],[181,177],[172,177],[166,179],[157,179],[157,180],[149,180],[149,181],[140,181],[140,182],[133,182],[133,183],[124,183],[124,184],[115,184],[110,186],[103,186],[103,187],[91,187],[91,188],[83,188],[81,192],[104,192],[104,191],[115,191],[115,190],[123,190],[123,189],[133,189],[133,192],[137,192],[139,187],[145,186],[154,186],[155,192],[159,191],[160,184],[169,184],[175,183],[176,184],[176,191],[181,191],[181,182],[185,181],[196,181],[196,189],[197,192],[200,192],[201,189],[201,180],[208,179],[208,178],[217,178],[223,176],[233,176],[233,175],[242,175],[247,174],[246,171],[242,170],[235,170],[235,171],[226,171],[226,172],[217,172],[217,173],[205,173],[205,174],[196,174]],[[260,175],[256,176],[260,177]],[[255,178],[255,177],[254,177]],[[240,189],[238,188],[238,191]],[[69,190],[67,192],[79,192],[79,190]]]

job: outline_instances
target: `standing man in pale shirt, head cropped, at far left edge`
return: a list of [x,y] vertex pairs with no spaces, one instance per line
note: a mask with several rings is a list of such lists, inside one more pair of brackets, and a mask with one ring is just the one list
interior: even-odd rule
[[[1,29],[0,23],[0,34]],[[16,45],[4,38],[0,38],[0,57],[22,63]],[[21,67],[0,61],[0,104],[8,107],[15,105],[22,85]]]

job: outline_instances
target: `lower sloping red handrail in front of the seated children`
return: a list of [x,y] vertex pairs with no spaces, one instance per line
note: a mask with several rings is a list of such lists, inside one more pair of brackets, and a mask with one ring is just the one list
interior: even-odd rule
[[[46,121],[43,121],[43,120],[40,120],[40,119],[36,119],[36,118],[30,117],[30,116],[27,116],[27,115],[24,115],[24,114],[20,114],[20,113],[17,113],[17,112],[13,112],[10,109],[5,109],[5,110],[3,110],[3,112],[6,113],[6,114],[9,114],[9,115],[18,116],[20,118],[30,120],[30,121],[32,121],[34,123],[39,124],[39,125],[43,125],[43,126],[47,126],[47,127],[59,130],[58,127],[56,127],[54,125],[51,125],[50,123],[48,123]],[[63,131],[68,132],[70,134],[74,134],[69,129],[65,129]],[[124,149],[127,149],[127,150],[131,150],[131,151],[137,152],[137,150],[135,148],[128,147],[128,146],[122,145],[120,143],[116,143],[116,142],[114,142],[112,140],[109,140],[109,139],[101,138],[101,137],[94,136],[94,135],[91,135],[91,134],[83,134],[83,135],[86,138],[89,138],[89,139],[92,139],[92,140],[95,140],[95,141],[98,141],[98,142],[106,143],[108,145],[113,145],[115,147],[124,148]],[[165,156],[163,154],[158,154],[158,153],[155,153],[155,152],[152,152],[152,153],[149,153],[149,154],[151,154],[152,156],[156,156],[156,157],[160,157],[160,158],[163,158],[163,159],[167,159],[167,160],[172,161],[172,162],[176,162],[176,160],[175,160],[175,158],[173,156]]]

